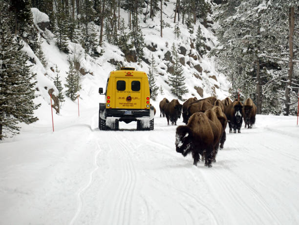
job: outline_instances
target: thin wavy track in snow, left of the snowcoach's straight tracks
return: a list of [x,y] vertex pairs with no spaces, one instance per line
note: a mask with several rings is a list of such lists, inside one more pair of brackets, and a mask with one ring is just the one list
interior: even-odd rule
[[[94,135],[92,135],[94,136]],[[99,143],[97,142],[97,149],[98,151],[96,152],[96,155],[94,157],[94,164],[96,165],[96,167],[89,173],[89,181],[88,183],[82,187],[80,189],[80,191],[78,192],[77,194],[77,199],[78,199],[78,202],[79,202],[79,205],[78,205],[78,208],[77,208],[77,212],[76,214],[74,215],[74,217],[72,218],[71,222],[69,223],[70,225],[73,225],[76,220],[77,220],[77,217],[79,216],[79,214],[81,213],[82,211],[82,208],[83,208],[83,198],[82,198],[82,194],[85,192],[85,190],[87,190],[87,188],[93,183],[94,181],[94,172],[99,168],[99,164],[98,164],[98,157],[100,155],[100,153],[102,152],[102,149],[99,145]]]

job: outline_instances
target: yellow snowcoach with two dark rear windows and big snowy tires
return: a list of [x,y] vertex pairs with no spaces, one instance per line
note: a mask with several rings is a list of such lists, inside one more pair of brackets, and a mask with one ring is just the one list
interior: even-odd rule
[[100,103],[99,129],[118,130],[119,122],[137,121],[137,130],[153,130],[154,112],[150,106],[149,80],[145,72],[122,67],[112,71],[107,79],[106,102]]

